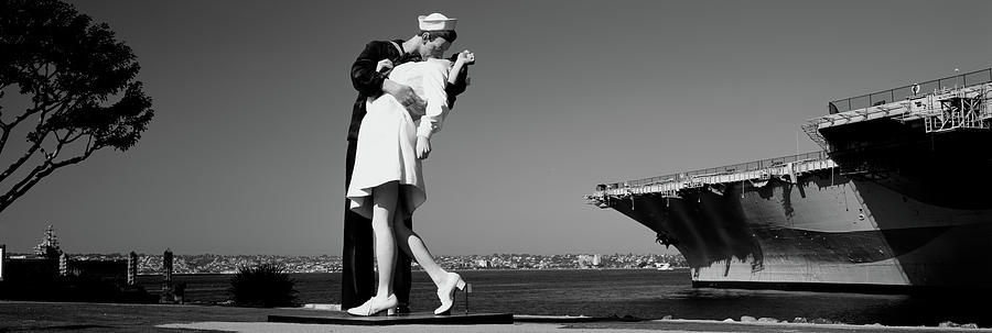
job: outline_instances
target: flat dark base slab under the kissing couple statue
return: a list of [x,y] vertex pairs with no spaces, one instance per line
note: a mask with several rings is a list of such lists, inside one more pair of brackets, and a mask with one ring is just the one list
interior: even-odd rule
[[513,313],[472,313],[434,315],[414,312],[399,315],[354,317],[344,312],[315,312],[305,315],[269,315],[269,322],[334,325],[492,325],[513,324]]

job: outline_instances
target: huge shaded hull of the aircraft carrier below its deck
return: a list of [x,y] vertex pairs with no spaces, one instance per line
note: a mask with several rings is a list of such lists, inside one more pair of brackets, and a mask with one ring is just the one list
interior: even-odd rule
[[[696,287],[867,292],[989,288],[992,207],[974,207],[992,204],[988,191],[914,193],[898,175],[844,176],[840,169],[802,175],[795,184],[742,181],[721,191],[702,187],[677,198],[640,196],[608,206],[655,231],[662,244],[676,246]],[[918,179],[910,182],[919,187]],[[940,204],[961,193],[969,193],[969,207]]]

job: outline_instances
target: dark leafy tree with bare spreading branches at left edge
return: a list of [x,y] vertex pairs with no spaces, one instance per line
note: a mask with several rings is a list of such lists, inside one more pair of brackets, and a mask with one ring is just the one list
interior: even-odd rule
[[132,147],[154,115],[131,48],[91,21],[57,0],[0,0],[0,212],[60,168]]

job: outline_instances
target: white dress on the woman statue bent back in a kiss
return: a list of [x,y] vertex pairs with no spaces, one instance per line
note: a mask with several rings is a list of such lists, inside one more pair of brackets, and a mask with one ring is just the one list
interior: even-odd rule
[[371,219],[374,189],[399,181],[396,213],[408,218],[427,200],[421,162],[417,158],[417,136],[430,137],[441,129],[449,112],[444,87],[451,62],[429,58],[396,66],[389,79],[413,88],[425,108],[403,108],[391,95],[369,98],[358,131],[355,168],[348,185],[351,209]]

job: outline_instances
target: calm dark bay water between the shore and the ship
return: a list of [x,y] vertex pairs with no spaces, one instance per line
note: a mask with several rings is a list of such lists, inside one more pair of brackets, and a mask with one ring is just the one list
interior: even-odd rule
[[[986,296],[893,296],[696,289],[687,270],[467,270],[459,271],[473,285],[468,300],[473,312],[511,312],[550,315],[634,315],[660,319],[713,319],[742,315],[779,320],[823,318],[852,324],[937,325],[942,321],[992,326]],[[438,306],[433,284],[422,271],[413,274],[413,311],[432,311]],[[187,301],[228,299],[227,275],[180,275],[187,284]],[[339,303],[341,274],[294,274],[298,299],[302,303]],[[144,276],[139,282],[149,291],[159,288],[160,277]],[[153,287],[154,286],[154,287]],[[459,293],[456,312],[464,311]],[[971,306],[969,304],[979,304]]]

